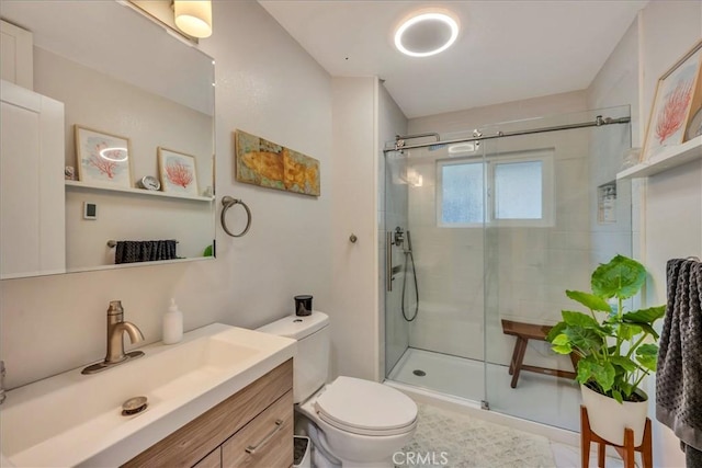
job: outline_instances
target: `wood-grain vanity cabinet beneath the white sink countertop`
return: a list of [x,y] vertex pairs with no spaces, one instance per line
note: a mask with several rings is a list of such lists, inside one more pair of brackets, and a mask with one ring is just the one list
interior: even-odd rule
[[189,422],[123,467],[293,465],[293,361]]

